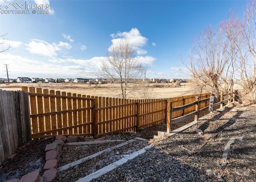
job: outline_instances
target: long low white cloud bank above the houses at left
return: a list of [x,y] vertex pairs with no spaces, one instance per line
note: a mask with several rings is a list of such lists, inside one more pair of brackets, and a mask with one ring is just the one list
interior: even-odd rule
[[[10,78],[18,76],[53,77],[53,78],[84,78],[96,77],[95,71],[100,67],[105,57],[93,57],[91,59],[58,59],[52,58],[42,61],[33,58],[27,59],[10,53],[0,54],[0,60],[9,65]],[[0,77],[4,72],[0,72]],[[40,76],[39,76],[40,75]]]

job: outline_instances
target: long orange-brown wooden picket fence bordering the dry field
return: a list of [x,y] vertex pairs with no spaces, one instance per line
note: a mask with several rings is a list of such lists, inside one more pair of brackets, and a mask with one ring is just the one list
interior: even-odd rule
[[[167,121],[168,101],[174,107],[195,101],[195,96],[131,100],[86,96],[34,87],[29,92],[32,138],[50,135],[98,136],[138,131]],[[207,98],[210,94],[202,94]],[[195,106],[173,112],[172,118],[189,114]]]

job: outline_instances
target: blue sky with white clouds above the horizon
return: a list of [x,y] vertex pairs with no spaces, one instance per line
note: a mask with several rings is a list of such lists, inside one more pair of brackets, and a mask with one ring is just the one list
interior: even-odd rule
[[[1,7],[12,2],[0,0]],[[48,14],[37,14],[42,9],[34,9],[36,14],[1,12],[0,35],[8,33],[6,44],[12,49],[0,53],[0,78],[7,77],[3,64],[9,65],[10,78],[96,78],[108,48],[126,38],[138,62],[147,67],[147,78],[185,78],[180,55],[188,63],[192,41],[204,28],[216,28],[230,9],[242,16],[246,6],[245,0],[17,2],[50,4],[50,10]]]

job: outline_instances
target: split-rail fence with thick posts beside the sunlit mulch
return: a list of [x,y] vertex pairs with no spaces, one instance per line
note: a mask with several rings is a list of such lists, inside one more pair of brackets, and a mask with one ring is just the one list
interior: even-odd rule
[[[183,105],[183,106],[174,106],[172,101],[168,102],[168,119],[167,119],[167,133],[171,132],[171,125],[178,123],[180,121],[183,121],[185,119],[188,119],[190,117],[194,116],[194,120],[198,119],[199,112],[208,108],[209,106],[209,100],[208,98],[199,98],[199,96],[195,96],[195,101],[191,102],[189,104]],[[213,104],[213,107],[220,106],[220,108],[223,107],[223,105],[228,105],[230,102],[235,101],[235,92],[228,92],[227,94],[223,94],[223,92],[220,92],[220,101]],[[191,108],[194,106],[194,111],[190,112],[189,114],[180,116],[180,117],[172,117],[174,112],[179,112],[181,110],[186,110],[187,108]]]

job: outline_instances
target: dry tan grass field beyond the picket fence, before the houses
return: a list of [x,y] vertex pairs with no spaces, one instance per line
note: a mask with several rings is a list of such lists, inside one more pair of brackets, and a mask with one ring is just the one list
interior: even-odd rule
[[[71,92],[76,94],[84,94],[89,96],[115,97],[118,84],[92,84],[91,86],[85,83],[11,83],[10,85],[1,84],[2,90],[21,90],[22,86],[46,88],[49,90],[59,90],[61,92]],[[137,88],[140,84],[137,84]],[[170,98],[182,95],[194,94],[194,89],[190,83],[181,83],[180,86],[175,87],[172,83],[151,83],[150,90],[152,94],[150,98]],[[143,99],[143,96],[131,95],[132,99]]]

